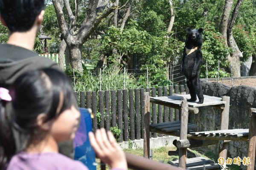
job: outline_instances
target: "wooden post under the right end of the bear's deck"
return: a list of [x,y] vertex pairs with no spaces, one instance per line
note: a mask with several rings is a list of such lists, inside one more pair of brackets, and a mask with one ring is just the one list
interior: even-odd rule
[[[222,101],[226,101],[225,107],[221,112],[221,130],[227,130],[228,129],[228,123],[229,123],[229,108],[230,108],[230,97],[229,96],[222,96]],[[219,155],[218,157],[224,158],[226,160],[227,158],[227,143],[223,143],[222,147],[219,146],[218,148]]]

